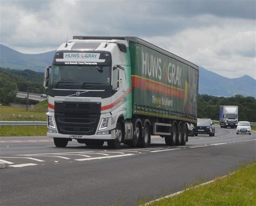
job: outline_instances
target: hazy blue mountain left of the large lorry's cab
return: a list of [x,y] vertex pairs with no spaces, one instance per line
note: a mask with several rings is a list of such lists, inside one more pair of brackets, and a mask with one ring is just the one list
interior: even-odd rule
[[41,54],[23,54],[0,44],[0,67],[44,72],[51,65],[55,51]]

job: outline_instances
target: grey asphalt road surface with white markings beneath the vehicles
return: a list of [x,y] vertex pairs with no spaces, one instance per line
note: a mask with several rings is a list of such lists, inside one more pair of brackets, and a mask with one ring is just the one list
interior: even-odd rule
[[47,137],[0,138],[1,205],[136,205],[212,180],[256,159],[256,133],[215,126],[185,146],[152,138],[147,148],[56,148]]

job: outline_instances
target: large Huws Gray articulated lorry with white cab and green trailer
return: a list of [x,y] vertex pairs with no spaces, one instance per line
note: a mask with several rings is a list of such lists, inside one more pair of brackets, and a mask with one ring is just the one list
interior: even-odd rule
[[75,36],[45,69],[57,147],[185,145],[197,123],[198,66],[137,37]]

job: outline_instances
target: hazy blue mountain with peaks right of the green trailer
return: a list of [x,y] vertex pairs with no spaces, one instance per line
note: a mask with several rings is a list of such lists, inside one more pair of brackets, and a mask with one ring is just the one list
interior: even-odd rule
[[199,67],[199,94],[224,97],[240,94],[256,97],[256,80],[248,75],[230,79]]

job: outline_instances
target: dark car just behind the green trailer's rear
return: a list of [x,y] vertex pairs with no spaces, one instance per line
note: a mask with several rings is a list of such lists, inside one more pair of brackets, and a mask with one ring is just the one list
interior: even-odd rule
[[215,136],[215,127],[212,119],[197,119],[197,126],[194,127],[194,135],[209,134]]

